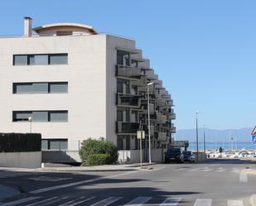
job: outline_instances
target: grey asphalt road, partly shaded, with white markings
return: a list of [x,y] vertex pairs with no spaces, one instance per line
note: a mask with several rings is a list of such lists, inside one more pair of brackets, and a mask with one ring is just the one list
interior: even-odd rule
[[0,173],[1,184],[16,186],[20,199],[0,205],[255,206],[256,169],[249,161],[160,164],[152,170],[116,172]]

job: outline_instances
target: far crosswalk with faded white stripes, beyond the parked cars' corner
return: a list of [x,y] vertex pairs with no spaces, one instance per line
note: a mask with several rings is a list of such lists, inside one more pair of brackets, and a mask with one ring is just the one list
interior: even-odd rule
[[180,167],[173,169],[173,171],[178,172],[178,171],[189,171],[189,172],[231,172],[231,173],[239,173],[240,169],[239,168],[230,168],[230,169],[224,169],[223,167],[196,167],[196,168],[191,168],[191,167]]

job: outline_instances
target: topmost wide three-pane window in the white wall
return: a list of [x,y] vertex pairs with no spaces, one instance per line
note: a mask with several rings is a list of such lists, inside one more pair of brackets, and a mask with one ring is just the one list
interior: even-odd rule
[[68,54],[13,55],[13,65],[67,65]]

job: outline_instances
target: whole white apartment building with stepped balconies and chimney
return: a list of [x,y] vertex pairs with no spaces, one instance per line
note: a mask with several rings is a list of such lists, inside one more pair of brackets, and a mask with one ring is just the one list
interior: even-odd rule
[[39,132],[44,151],[78,151],[89,137],[138,150],[139,129],[148,146],[149,111],[152,148],[168,146],[173,100],[135,41],[82,24],[31,22],[24,18],[23,36],[0,38],[1,132]]

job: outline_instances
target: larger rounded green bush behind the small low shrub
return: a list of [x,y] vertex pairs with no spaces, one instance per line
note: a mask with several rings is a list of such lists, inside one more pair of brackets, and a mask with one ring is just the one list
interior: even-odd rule
[[87,163],[89,156],[93,154],[106,154],[109,156],[108,163],[106,164],[114,164],[118,160],[118,147],[111,141],[89,138],[82,142],[80,158],[83,162]]

